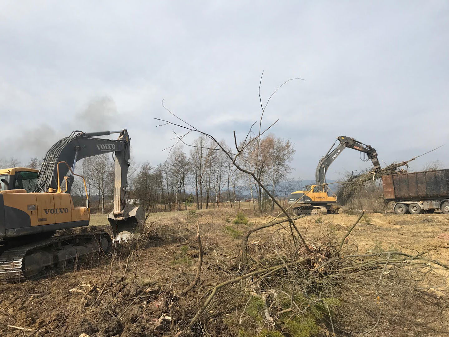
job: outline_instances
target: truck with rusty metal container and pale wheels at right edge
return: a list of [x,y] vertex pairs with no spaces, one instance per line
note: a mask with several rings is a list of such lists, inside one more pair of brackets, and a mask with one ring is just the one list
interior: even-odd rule
[[383,196],[396,214],[449,214],[449,169],[382,176]]

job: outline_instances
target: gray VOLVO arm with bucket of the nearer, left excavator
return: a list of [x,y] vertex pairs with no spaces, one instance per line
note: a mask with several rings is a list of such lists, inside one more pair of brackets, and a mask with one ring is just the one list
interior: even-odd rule
[[[115,140],[97,137],[111,133],[119,133],[119,137]],[[67,165],[60,164],[58,177],[58,163],[66,162],[71,170],[75,171],[76,162],[83,158],[114,152],[114,209],[109,213],[108,220],[115,240],[120,241],[128,239],[130,235],[141,234],[145,212],[142,207],[127,205],[130,140],[126,129],[92,133],[74,131],[48,150],[40,168],[35,192],[47,192],[49,188],[57,189],[58,178],[62,182],[69,172]],[[73,179],[73,175],[67,177],[66,193],[70,193]]]

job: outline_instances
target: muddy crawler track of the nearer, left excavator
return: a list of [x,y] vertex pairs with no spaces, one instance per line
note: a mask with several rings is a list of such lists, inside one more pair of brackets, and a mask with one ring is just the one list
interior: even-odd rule
[[58,272],[89,253],[107,253],[111,247],[110,235],[101,232],[53,236],[7,248],[0,254],[0,279],[35,279],[46,271]]

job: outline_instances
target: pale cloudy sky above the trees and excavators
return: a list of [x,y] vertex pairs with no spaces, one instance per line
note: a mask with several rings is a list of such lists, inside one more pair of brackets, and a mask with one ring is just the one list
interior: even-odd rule
[[[0,0],[0,46],[0,157],[23,164],[75,129],[126,128],[157,165],[175,137],[153,119],[175,121],[162,101],[233,144],[260,118],[264,72],[263,102],[304,79],[262,124],[295,144],[292,177],[313,179],[338,136],[385,164],[446,144],[411,166],[449,167],[447,1]],[[327,178],[367,166],[347,149]]]

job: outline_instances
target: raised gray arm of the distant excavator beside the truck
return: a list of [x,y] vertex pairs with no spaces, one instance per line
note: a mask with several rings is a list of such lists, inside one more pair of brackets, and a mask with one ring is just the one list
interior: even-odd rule
[[380,169],[380,163],[377,159],[377,152],[373,147],[363,144],[362,142],[358,142],[351,137],[340,136],[337,137],[337,140],[339,141],[339,145],[334,147],[334,143],[330,147],[329,151],[327,151],[326,155],[323,156],[318,163],[317,170],[315,172],[315,180],[317,181],[317,185],[326,184],[327,169],[329,168],[330,164],[332,164],[334,160],[340,155],[340,153],[347,147],[366,153],[368,158],[373,162],[374,170],[376,171]]

